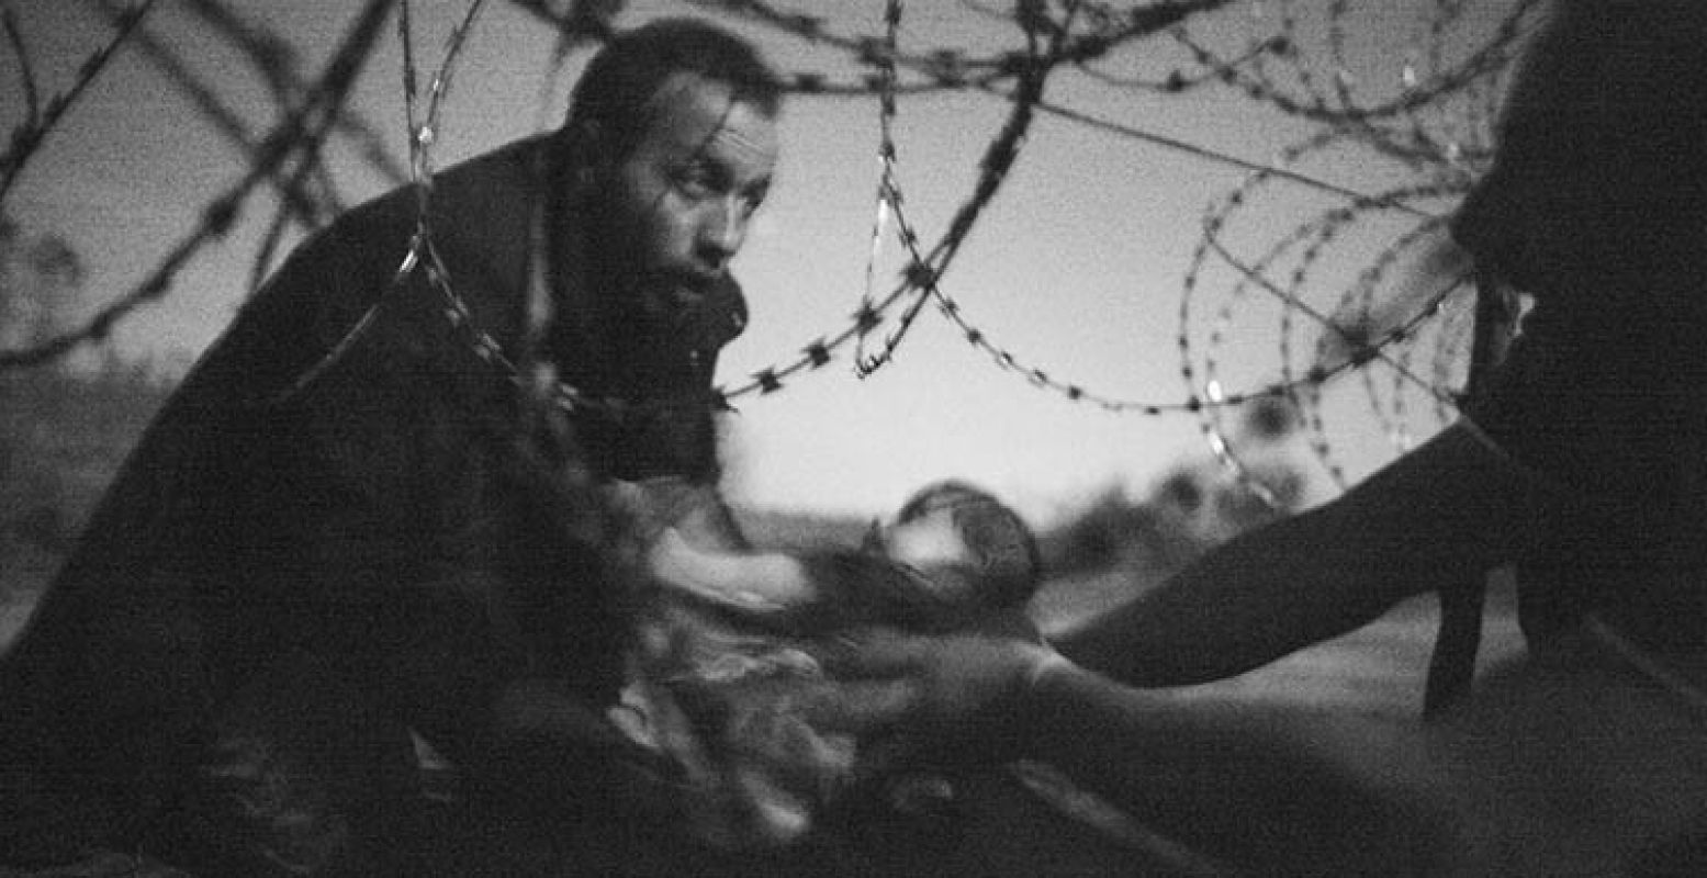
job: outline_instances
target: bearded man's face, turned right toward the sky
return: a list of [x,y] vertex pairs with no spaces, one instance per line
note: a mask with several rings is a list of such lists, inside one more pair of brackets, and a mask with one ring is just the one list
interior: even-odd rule
[[676,73],[652,123],[603,176],[594,217],[630,316],[678,326],[729,273],[777,166],[777,125],[720,82]]

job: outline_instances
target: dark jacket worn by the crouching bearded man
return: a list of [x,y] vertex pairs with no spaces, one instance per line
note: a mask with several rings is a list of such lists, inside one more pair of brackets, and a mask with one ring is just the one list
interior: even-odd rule
[[[724,284],[691,331],[645,338],[575,246],[536,258],[597,220],[550,198],[550,145],[434,181],[432,241],[471,323],[432,260],[393,284],[417,231],[405,188],[299,248],[167,401],[0,663],[0,861],[138,832],[210,716],[280,656],[333,656],[475,769],[505,752],[493,705],[516,680],[615,700],[591,485],[715,480],[710,379],[744,304]],[[504,366],[539,282],[538,359],[577,405],[529,403]]]

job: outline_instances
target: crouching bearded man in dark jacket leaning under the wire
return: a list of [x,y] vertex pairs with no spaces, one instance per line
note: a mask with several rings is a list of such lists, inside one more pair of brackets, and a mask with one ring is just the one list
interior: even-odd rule
[[[417,875],[411,733],[471,799],[589,837],[667,822],[667,770],[604,714],[597,490],[715,500],[729,263],[780,94],[744,41],[657,20],[589,63],[560,130],[432,181],[411,272],[413,188],[302,244],[0,664],[0,863]],[[743,545],[727,512],[714,531]]]

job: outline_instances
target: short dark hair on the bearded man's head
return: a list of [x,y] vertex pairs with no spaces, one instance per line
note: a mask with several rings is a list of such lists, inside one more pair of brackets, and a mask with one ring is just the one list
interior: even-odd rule
[[739,36],[700,19],[659,19],[615,36],[575,84],[565,128],[592,123],[613,155],[626,155],[652,123],[647,102],[674,73],[729,85],[766,116],[782,109],[782,80]]

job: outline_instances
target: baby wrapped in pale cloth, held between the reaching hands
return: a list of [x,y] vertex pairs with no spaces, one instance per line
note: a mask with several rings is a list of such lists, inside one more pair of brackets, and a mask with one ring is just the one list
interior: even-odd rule
[[693,828],[724,847],[804,835],[852,779],[857,741],[809,719],[831,697],[823,642],[874,623],[961,629],[1024,606],[1040,579],[1026,523],[964,482],[918,490],[859,550],[705,550],[693,518],[673,509],[640,559],[632,685],[613,719],[681,765]]

